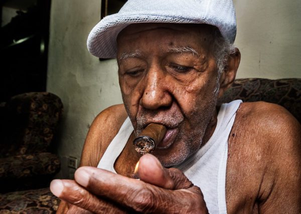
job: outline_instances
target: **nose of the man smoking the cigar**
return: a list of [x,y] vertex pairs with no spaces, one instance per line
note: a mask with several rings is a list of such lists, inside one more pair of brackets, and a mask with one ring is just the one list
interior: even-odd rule
[[140,99],[140,105],[150,110],[170,106],[173,98],[168,90],[169,83],[164,71],[159,67],[151,67],[145,77],[145,88]]

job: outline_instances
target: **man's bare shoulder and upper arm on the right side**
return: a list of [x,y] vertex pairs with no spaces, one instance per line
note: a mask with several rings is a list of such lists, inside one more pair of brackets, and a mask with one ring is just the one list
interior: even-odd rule
[[[245,207],[249,210],[243,212],[253,212],[254,207],[268,213],[300,211],[301,127],[285,108],[261,101],[242,103],[228,145],[226,192],[236,204],[229,204],[229,213]],[[238,197],[248,206],[237,203]]]

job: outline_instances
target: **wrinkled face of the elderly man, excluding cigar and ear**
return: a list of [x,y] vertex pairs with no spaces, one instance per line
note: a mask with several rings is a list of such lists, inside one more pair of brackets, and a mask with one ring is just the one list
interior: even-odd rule
[[136,134],[152,122],[166,125],[153,152],[165,166],[196,152],[210,132],[218,76],[210,30],[199,24],[132,24],[117,38],[126,111]]

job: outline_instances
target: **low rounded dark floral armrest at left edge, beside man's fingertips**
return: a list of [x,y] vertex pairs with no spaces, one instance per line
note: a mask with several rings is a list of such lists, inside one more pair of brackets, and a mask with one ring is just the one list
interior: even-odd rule
[[54,174],[60,168],[56,154],[42,152],[0,158],[0,180]]

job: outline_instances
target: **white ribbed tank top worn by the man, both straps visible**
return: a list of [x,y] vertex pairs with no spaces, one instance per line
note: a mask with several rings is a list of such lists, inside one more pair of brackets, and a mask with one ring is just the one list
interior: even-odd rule
[[[241,100],[234,100],[222,104],[217,115],[216,128],[208,142],[183,163],[174,166],[181,169],[195,185],[201,188],[209,213],[227,213],[228,138],[241,102]],[[116,173],[115,160],[123,150],[132,131],[133,126],[127,117],[104,152],[97,168]]]

